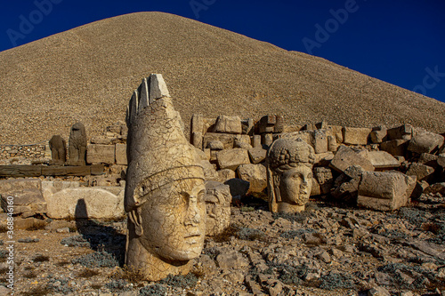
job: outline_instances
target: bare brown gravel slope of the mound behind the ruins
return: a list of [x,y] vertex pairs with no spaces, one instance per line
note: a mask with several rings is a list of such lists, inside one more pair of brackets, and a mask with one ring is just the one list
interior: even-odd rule
[[162,73],[186,124],[265,114],[289,124],[410,123],[445,132],[445,104],[327,60],[172,14],[139,12],[0,52],[0,144],[89,136],[125,118],[143,76]]

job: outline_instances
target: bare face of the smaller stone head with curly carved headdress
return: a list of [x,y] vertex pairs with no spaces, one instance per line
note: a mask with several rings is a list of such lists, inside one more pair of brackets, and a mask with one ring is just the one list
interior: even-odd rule
[[309,201],[312,188],[312,169],[298,165],[282,173],[279,181],[281,202],[304,205]]

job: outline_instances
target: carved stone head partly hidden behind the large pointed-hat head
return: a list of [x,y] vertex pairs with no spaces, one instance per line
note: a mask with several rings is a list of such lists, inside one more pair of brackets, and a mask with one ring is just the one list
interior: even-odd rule
[[217,236],[231,224],[231,188],[206,181],[206,236]]

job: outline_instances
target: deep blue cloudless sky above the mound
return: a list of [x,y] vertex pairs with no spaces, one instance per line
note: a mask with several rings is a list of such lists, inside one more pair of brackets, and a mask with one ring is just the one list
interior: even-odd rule
[[120,14],[170,12],[445,101],[443,0],[8,0],[0,7],[0,51]]

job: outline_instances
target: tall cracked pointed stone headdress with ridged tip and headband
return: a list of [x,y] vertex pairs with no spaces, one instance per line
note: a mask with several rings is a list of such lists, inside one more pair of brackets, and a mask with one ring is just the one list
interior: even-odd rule
[[128,170],[125,211],[150,197],[150,192],[175,180],[202,179],[195,148],[185,138],[182,119],[164,78],[151,74],[134,91],[127,107]]

